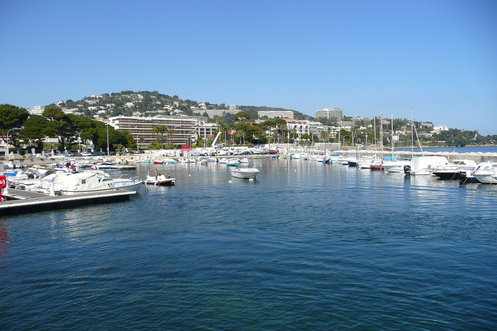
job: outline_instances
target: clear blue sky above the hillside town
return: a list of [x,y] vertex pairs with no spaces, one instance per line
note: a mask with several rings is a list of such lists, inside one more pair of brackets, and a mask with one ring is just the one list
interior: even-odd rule
[[497,1],[1,1],[0,103],[157,90],[497,133]]

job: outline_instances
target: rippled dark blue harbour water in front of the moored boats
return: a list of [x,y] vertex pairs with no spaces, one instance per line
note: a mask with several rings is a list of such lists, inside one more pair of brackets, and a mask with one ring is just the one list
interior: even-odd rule
[[0,216],[1,330],[496,330],[497,186],[256,164]]

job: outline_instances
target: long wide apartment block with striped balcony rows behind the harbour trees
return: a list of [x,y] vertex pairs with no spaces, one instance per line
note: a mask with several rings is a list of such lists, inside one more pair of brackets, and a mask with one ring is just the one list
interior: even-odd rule
[[[133,135],[139,145],[148,145],[156,142],[154,128],[160,125],[166,129],[174,129],[176,133],[171,136],[171,143],[186,145],[195,139],[196,125],[195,120],[178,117],[128,117],[114,116],[109,118],[110,125],[118,131],[127,131]],[[140,140],[143,138],[143,140]],[[166,135],[165,135],[166,138]],[[169,141],[168,137],[166,138]]]

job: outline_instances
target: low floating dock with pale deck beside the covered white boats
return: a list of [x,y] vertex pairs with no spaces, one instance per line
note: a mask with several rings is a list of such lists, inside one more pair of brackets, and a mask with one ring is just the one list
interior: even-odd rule
[[0,202],[0,215],[123,201],[129,200],[129,197],[134,194],[136,191],[112,190],[68,196],[49,196],[43,193],[8,189],[8,193],[2,193],[2,197],[6,198],[7,201]]

